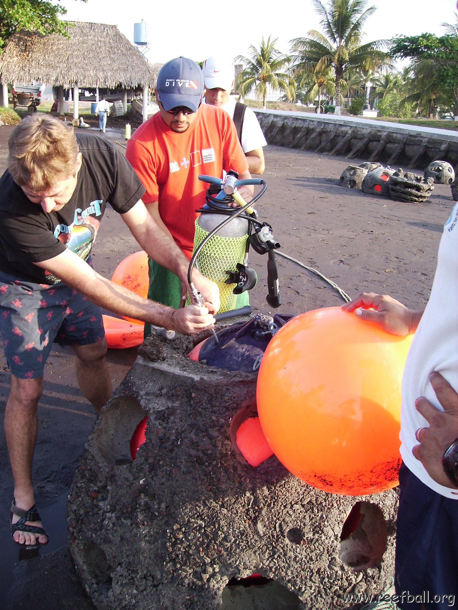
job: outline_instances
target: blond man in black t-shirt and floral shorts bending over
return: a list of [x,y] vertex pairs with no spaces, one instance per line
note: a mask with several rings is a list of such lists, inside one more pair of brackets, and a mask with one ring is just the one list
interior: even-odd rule
[[48,542],[31,469],[53,341],[73,347],[79,387],[100,411],[112,393],[100,307],[186,334],[213,326],[217,286],[198,272],[193,279],[207,307],[176,310],[92,269],[90,251],[108,201],[151,258],[175,273],[187,267],[146,211],[144,192],[111,143],[87,133],[76,137],[56,118],[27,117],[10,137],[9,170],[0,178],[0,328],[11,371],[5,436],[15,486],[12,536],[20,545]]

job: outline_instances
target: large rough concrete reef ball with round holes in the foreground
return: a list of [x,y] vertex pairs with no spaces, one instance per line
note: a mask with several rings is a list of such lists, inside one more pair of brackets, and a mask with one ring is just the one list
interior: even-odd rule
[[[255,409],[256,374],[190,361],[191,346],[145,342],[76,471],[70,550],[96,607],[213,610],[231,578],[253,572],[296,594],[300,608],[343,608],[347,592],[387,589],[396,491],[321,492],[275,456],[252,468],[234,432]],[[129,441],[145,414],[147,440],[132,462]],[[362,511],[341,549],[346,517],[362,500],[375,504],[375,518]]]

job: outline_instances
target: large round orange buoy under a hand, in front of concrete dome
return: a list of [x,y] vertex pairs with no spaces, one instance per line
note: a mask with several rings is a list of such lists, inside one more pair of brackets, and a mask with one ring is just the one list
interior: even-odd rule
[[340,307],[286,323],[267,346],[256,389],[261,426],[280,462],[327,492],[396,486],[411,342]]

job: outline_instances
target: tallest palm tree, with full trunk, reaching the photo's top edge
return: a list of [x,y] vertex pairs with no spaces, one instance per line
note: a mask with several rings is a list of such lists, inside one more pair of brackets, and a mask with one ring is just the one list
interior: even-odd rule
[[376,40],[361,44],[363,25],[376,7],[366,9],[366,0],[328,0],[327,7],[320,0],[312,0],[321,15],[323,32],[310,30],[305,38],[294,38],[293,67],[304,72],[332,67],[335,72],[336,109],[340,114],[340,86],[346,70],[366,73],[382,68],[386,54],[381,50],[387,43]]

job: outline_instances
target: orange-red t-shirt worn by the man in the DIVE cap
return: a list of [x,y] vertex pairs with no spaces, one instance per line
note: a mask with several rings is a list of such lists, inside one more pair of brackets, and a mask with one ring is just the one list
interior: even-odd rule
[[147,190],[142,201],[159,201],[162,221],[188,254],[194,242],[195,210],[205,203],[208,188],[199,174],[222,178],[223,170],[248,169],[228,113],[206,104],[197,113],[194,123],[178,134],[156,112],[136,129],[126,148],[126,158]]

